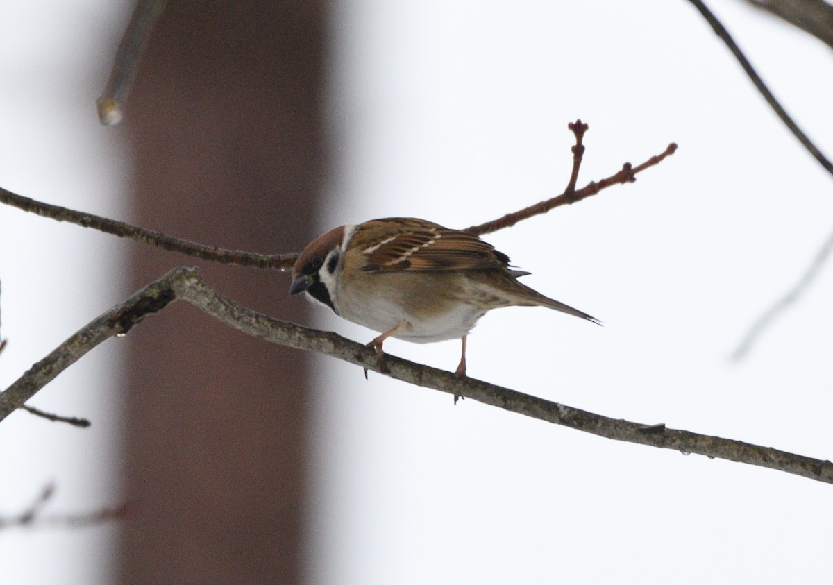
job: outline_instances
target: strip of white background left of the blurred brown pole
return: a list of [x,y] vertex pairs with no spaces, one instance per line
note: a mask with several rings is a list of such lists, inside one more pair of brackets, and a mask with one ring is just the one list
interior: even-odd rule
[[[127,218],[130,164],[121,131],[97,121],[95,100],[129,2],[0,0],[0,185],[68,208]],[[92,230],[0,209],[0,388],[127,296],[127,244]],[[92,420],[86,430],[25,412],[0,424],[0,515],[25,510],[48,483],[42,516],[121,503],[118,343],[108,342],[29,404]],[[107,583],[118,526],[0,531],[0,581]]]

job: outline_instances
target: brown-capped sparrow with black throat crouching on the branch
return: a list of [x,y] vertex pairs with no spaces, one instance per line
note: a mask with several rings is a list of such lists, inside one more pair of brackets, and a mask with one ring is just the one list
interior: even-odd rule
[[456,375],[466,375],[466,337],[487,311],[546,307],[601,322],[518,282],[509,257],[471,233],[416,218],[333,228],[304,248],[289,293],[307,293],[342,318],[415,343],[461,339]]

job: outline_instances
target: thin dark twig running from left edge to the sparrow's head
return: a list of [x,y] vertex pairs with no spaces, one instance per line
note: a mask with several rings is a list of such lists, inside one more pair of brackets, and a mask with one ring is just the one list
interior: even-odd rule
[[240,250],[227,250],[217,248],[216,246],[188,242],[187,240],[173,238],[164,233],[137,228],[129,223],[102,218],[92,213],[84,213],[50,203],[42,203],[35,199],[17,195],[17,193],[12,193],[4,188],[0,188],[0,203],[22,209],[22,211],[28,213],[36,213],[44,218],[51,218],[57,222],[74,223],[82,228],[97,229],[99,232],[112,233],[119,238],[129,238],[136,242],[146,243],[154,248],[162,248],[162,250],[178,252],[186,256],[191,256],[192,258],[210,260],[221,264],[288,270],[292,268],[292,263],[297,258],[297,254],[254,254]]

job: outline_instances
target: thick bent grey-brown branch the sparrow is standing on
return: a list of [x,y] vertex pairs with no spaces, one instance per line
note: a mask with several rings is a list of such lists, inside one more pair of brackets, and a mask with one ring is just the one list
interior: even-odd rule
[[380,361],[375,350],[361,343],[352,342],[336,333],[279,321],[222,296],[202,280],[196,268],[173,269],[133,294],[124,303],[94,319],[87,327],[62,343],[6,391],[0,393],[0,420],[32,398],[39,388],[98,343],[119,333],[126,333],[142,318],[161,311],[167,304],[178,299],[191,303],[221,323],[252,337],[289,348],[323,353],[390,378],[434,388],[451,396],[463,396],[513,413],[617,441],[674,449],[683,453],[699,453],[710,458],[748,463],[824,483],[833,483],[833,463],[829,461],[751,443],[666,428],[664,425],[646,425],[608,418],[474,378],[458,378],[453,373],[408,362],[390,354],[386,354]]

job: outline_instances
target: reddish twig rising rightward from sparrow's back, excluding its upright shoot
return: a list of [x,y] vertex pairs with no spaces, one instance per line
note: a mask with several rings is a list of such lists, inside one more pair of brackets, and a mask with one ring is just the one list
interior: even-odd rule
[[[571,205],[572,203],[579,202],[582,199],[590,197],[591,195],[596,195],[596,193],[599,193],[602,189],[608,188],[611,185],[616,185],[620,183],[633,183],[634,181],[636,181],[635,175],[637,173],[641,173],[646,168],[653,167],[654,165],[661,163],[663,159],[671,156],[671,154],[674,154],[676,152],[676,149],[677,145],[675,143],[671,143],[668,145],[668,147],[663,153],[657,154],[656,156],[649,158],[648,160],[646,160],[645,163],[642,163],[637,167],[631,167],[631,163],[625,163],[624,165],[622,165],[621,171],[612,174],[608,178],[601,179],[601,181],[599,181],[598,183],[587,183],[585,187],[579,189],[578,191],[566,190],[564,193],[561,193],[561,195],[558,195],[557,197],[547,199],[546,201],[541,201],[540,203],[536,203],[535,205],[531,205],[530,207],[521,209],[520,211],[516,211],[515,213],[507,213],[502,218],[495,219],[491,222],[471,226],[471,228],[466,228],[463,231],[473,233],[477,236],[481,236],[484,233],[496,232],[499,229],[509,228],[515,225],[516,223],[521,222],[524,219],[528,219],[533,216],[540,215],[541,213],[546,213],[551,209],[561,207],[561,205]],[[573,169],[577,174],[577,168],[575,163]]]

